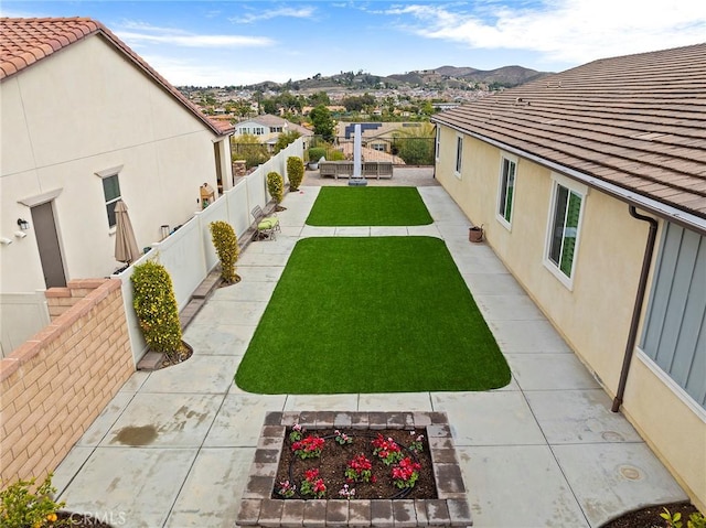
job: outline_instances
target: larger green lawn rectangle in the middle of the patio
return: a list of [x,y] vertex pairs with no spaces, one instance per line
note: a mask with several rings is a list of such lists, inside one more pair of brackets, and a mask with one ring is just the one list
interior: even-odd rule
[[510,368],[442,240],[306,238],[235,381],[260,394],[486,390]]

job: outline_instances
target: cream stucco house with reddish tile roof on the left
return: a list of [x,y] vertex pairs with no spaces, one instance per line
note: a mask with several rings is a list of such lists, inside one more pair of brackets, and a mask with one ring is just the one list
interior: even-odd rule
[[9,354],[46,323],[38,291],[121,266],[118,200],[149,248],[202,208],[204,183],[232,186],[233,128],[211,121],[90,19],[0,19],[0,82]]

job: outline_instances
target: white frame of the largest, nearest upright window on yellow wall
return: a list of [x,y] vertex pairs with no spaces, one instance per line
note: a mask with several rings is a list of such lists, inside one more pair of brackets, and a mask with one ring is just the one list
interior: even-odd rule
[[[574,257],[571,259],[571,269],[568,277],[560,269],[561,256],[559,256],[558,263],[555,263],[549,258],[549,251],[552,249],[552,239],[553,239],[553,231],[554,231],[554,216],[556,213],[559,187],[564,187],[569,192],[568,200],[570,200],[571,194],[578,195],[581,200],[581,205],[578,213],[577,226],[575,228],[574,227],[569,228],[569,229],[576,230],[576,237],[575,237],[576,240],[574,243]],[[549,211],[547,215],[547,230],[546,230],[545,243],[544,243],[543,263],[545,268],[548,269],[552,272],[552,274],[554,274],[554,277],[556,277],[559,280],[559,282],[561,282],[568,290],[571,290],[571,291],[574,290],[574,278],[576,277],[576,262],[578,261],[578,252],[579,252],[580,243],[581,243],[581,224],[584,223],[584,212],[586,209],[587,197],[588,197],[588,186],[581,183],[578,183],[574,180],[570,180],[561,174],[554,174],[554,173],[552,174],[552,196],[549,200]],[[567,203],[567,209],[564,216],[564,233],[566,233],[566,229],[567,229],[566,227],[567,214],[568,214],[568,203]],[[563,240],[564,240],[564,237],[563,237]],[[564,243],[561,244],[561,251],[563,250],[564,250]]]

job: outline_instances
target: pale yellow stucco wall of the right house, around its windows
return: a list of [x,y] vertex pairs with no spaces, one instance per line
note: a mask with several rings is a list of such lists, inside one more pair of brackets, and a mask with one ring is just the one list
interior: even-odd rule
[[[488,243],[545,315],[613,397],[644,255],[648,224],[632,218],[628,205],[589,190],[584,203],[573,288],[543,263],[552,197],[552,171],[517,159],[512,227],[495,217],[501,150],[466,136],[461,177],[454,175],[457,132],[441,127],[436,176],[475,225],[484,225]],[[638,362],[633,362],[638,363]],[[704,464],[684,453],[700,445],[706,424],[681,399],[643,395],[672,394],[644,368],[630,373],[627,416],[703,508]],[[682,425],[664,428],[664,417],[682,417]],[[691,417],[691,418],[688,418]],[[700,442],[697,443],[697,442]],[[703,454],[703,453],[702,453]]]

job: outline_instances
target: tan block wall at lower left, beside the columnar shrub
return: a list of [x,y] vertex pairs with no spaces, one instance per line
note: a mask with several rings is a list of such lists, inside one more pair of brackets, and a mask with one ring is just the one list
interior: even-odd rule
[[3,486],[54,471],[135,370],[120,281],[74,285],[73,306],[0,362]]

